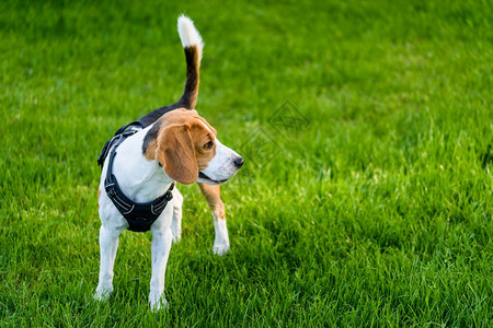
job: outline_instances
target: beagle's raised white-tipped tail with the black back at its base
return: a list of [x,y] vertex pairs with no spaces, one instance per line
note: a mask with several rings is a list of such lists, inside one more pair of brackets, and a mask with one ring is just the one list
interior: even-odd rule
[[182,40],[186,59],[185,91],[176,103],[154,109],[141,117],[139,121],[144,127],[153,124],[158,118],[170,110],[176,108],[194,109],[197,104],[199,69],[204,42],[192,20],[185,15],[181,15],[177,20],[177,32],[180,34],[180,39]]

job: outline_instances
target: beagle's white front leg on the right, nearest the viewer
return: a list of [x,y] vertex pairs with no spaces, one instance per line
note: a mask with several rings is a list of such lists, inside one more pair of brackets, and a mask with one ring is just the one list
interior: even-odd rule
[[158,311],[161,306],[165,307],[168,305],[164,298],[164,274],[173,235],[170,227],[161,230],[159,226],[152,226],[151,232],[152,277],[150,281],[149,303],[152,311]]

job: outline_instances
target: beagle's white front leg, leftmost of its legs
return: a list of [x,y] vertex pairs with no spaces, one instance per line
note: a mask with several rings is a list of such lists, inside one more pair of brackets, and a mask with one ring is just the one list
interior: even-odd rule
[[122,230],[100,229],[100,282],[94,298],[106,300],[113,292],[113,266],[115,263],[116,249],[118,248],[118,236]]

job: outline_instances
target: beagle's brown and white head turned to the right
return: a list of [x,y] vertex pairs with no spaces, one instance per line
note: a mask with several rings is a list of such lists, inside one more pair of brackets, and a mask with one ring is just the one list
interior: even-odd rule
[[163,115],[146,136],[142,151],[164,173],[184,185],[220,185],[243,165],[243,157],[217,139],[217,131],[196,110]]

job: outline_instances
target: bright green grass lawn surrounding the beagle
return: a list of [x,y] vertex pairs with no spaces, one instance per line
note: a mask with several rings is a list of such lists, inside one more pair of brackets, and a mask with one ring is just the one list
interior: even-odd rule
[[[491,1],[270,2],[0,2],[0,326],[493,325]],[[181,95],[182,12],[197,108],[246,157],[231,251],[180,186],[169,309],[150,233],[123,233],[100,304],[95,160]],[[286,101],[307,125],[272,124]]]

